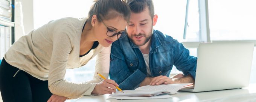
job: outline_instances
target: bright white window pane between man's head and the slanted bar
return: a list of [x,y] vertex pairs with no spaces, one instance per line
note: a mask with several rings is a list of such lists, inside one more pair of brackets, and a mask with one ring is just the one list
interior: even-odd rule
[[[158,15],[155,30],[183,40],[186,0],[153,0],[155,14]],[[168,12],[166,12],[168,11]]]

